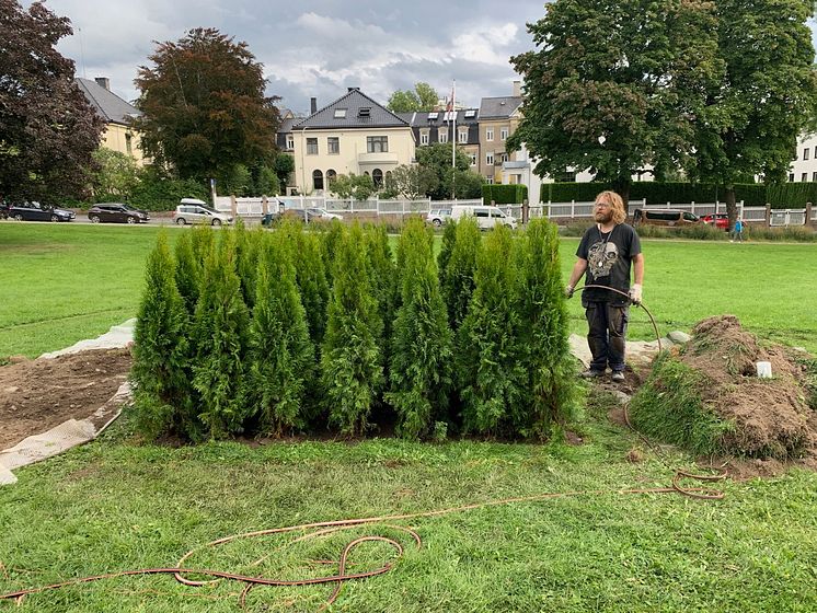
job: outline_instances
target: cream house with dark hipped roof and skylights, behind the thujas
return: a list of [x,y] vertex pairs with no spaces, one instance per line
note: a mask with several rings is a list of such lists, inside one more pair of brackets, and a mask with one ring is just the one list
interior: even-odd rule
[[312,99],[311,111],[278,137],[291,136],[295,184],[301,194],[329,193],[340,174],[368,174],[381,185],[396,166],[414,161],[411,125],[358,88],[320,109]]

